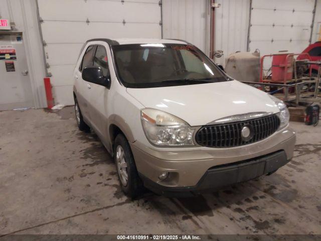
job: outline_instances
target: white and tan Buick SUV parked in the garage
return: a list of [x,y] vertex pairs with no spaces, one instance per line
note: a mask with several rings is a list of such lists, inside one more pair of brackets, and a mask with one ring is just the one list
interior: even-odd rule
[[92,39],[74,70],[80,130],[114,157],[122,190],[191,195],[270,174],[295,133],[279,99],[181,40]]

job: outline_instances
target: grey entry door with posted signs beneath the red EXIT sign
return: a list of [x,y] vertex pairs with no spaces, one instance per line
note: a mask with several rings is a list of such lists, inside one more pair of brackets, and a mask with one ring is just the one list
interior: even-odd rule
[[22,33],[0,33],[0,110],[34,107]]

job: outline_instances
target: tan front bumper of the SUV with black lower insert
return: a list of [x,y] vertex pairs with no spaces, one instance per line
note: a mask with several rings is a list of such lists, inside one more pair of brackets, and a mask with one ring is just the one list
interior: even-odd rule
[[[239,181],[249,180],[266,173],[272,172],[277,168],[285,165],[293,156],[295,144],[295,133],[289,128],[274,133],[272,136],[260,142],[253,143],[247,146],[235,148],[175,148],[175,149],[151,149],[144,146],[138,141],[131,143],[131,150],[135,159],[137,171],[144,181],[144,185],[150,189],[158,190],[202,190],[216,188],[216,185],[229,185]],[[275,161],[273,155],[277,155],[277,165],[272,165]],[[280,153],[283,153],[282,155]],[[270,156],[272,155],[272,156]],[[270,158],[266,160],[266,157]],[[265,161],[261,161],[265,158]],[[255,165],[252,165],[252,161]],[[258,161],[259,160],[259,161]],[[240,163],[247,163],[246,167]],[[258,165],[258,163],[261,163]],[[262,165],[264,164],[264,171]],[[280,164],[280,165],[279,165]],[[237,166],[235,166],[237,165]],[[274,170],[265,169],[266,165],[272,165]],[[224,169],[224,176],[227,178],[217,179],[220,183],[214,184],[211,181],[208,184],[200,184],[206,176],[220,176],[223,172],[220,167],[229,167],[229,171]],[[232,169],[231,169],[232,168]],[[214,172],[213,170],[220,170]],[[236,170],[231,173],[231,170]],[[266,172],[268,171],[268,172]],[[163,172],[170,172],[170,176],[161,181],[158,176]],[[214,174],[213,174],[214,173]],[[228,174],[227,174],[228,173]],[[253,173],[256,173],[255,175]],[[246,178],[241,178],[246,176]],[[227,181],[226,180],[231,180]],[[216,181],[217,183],[217,181]],[[154,185],[153,185],[154,184]],[[152,187],[153,186],[153,187]],[[154,190],[155,191],[155,190]],[[181,191],[182,192],[182,191]],[[164,191],[161,191],[164,193]]]

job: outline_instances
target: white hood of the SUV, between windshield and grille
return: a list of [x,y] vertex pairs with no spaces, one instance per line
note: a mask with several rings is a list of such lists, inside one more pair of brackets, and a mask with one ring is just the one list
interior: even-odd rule
[[173,114],[191,126],[203,126],[236,114],[279,112],[267,93],[236,80],[159,88],[127,88],[127,92],[145,107]]

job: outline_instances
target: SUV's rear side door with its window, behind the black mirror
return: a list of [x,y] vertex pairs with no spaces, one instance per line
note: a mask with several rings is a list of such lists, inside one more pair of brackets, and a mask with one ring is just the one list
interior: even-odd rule
[[89,101],[90,101],[90,90],[91,85],[93,85],[90,82],[85,81],[81,77],[82,70],[85,67],[93,66],[93,57],[95,54],[96,45],[89,45],[86,48],[86,52],[83,56],[83,59],[80,63],[79,69],[76,71],[75,74],[75,81],[78,84],[77,85],[77,100],[78,104],[81,110],[81,113],[83,117],[87,120],[87,122],[90,122],[90,113],[89,113]]

